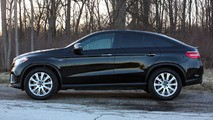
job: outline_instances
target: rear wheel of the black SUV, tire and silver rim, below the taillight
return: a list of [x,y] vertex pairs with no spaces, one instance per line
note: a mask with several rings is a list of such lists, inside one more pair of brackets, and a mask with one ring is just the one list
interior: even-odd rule
[[151,74],[148,88],[149,92],[158,99],[171,100],[180,94],[182,81],[174,70],[158,69]]

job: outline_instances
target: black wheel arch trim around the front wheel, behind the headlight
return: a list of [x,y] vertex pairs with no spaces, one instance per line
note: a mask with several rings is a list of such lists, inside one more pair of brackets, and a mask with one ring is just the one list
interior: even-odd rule
[[60,89],[61,85],[62,85],[62,76],[61,76],[61,73],[59,71],[59,68],[56,67],[55,65],[52,65],[52,64],[49,64],[49,63],[34,63],[34,64],[31,64],[28,67],[26,67],[21,74],[21,89],[24,90],[24,79],[25,79],[26,75],[32,69],[39,68],[39,67],[50,69],[53,73],[55,73],[55,75],[58,79],[58,83],[59,83],[58,89]]

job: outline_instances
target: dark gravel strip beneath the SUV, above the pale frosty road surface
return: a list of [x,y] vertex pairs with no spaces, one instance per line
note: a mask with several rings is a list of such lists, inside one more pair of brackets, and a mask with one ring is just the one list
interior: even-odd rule
[[101,107],[110,110],[142,110],[164,112],[212,113],[213,93],[210,91],[184,88],[174,100],[163,101],[153,98],[144,91],[59,91],[51,99],[32,100],[24,91],[0,84],[0,101],[17,100],[41,103],[63,103]]

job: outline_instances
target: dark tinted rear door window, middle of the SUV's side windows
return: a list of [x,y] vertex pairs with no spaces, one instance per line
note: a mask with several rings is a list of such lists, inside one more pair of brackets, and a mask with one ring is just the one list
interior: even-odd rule
[[119,33],[116,48],[144,48],[155,47],[149,35],[142,33]]

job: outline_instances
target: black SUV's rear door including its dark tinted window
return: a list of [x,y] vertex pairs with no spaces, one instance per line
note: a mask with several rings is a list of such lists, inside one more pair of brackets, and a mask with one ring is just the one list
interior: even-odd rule
[[160,52],[149,34],[120,32],[115,41],[114,74],[119,83],[141,83]]

